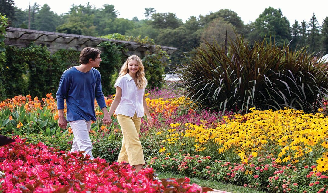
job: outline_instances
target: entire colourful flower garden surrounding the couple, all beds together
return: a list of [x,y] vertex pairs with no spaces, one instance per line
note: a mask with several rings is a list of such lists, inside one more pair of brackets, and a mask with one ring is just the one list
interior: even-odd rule
[[[0,134],[15,142],[0,147],[0,192],[206,192],[190,177],[268,192],[328,192],[328,117],[300,110],[244,115],[197,108],[187,98],[149,90],[146,101],[154,125],[142,124],[140,140],[147,164],[134,172],[115,162],[121,133],[92,123],[94,160],[69,153],[70,128],[57,126],[52,94],[41,100],[15,96],[0,103]],[[111,105],[114,96],[107,96]],[[144,120],[142,120],[144,122]],[[153,180],[156,172],[185,179]]]

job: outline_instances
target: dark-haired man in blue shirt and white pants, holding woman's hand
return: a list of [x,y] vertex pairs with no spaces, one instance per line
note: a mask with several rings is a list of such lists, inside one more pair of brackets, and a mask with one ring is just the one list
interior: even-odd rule
[[[80,65],[67,69],[61,76],[56,93],[58,109],[58,125],[66,129],[70,122],[74,135],[71,152],[85,151],[92,156],[92,143],[89,137],[91,122],[96,121],[94,99],[104,113],[103,123],[110,124],[104,94],[101,87],[101,76],[98,70],[101,51],[84,48],[80,54]],[[64,116],[64,99],[66,99],[67,115]]]

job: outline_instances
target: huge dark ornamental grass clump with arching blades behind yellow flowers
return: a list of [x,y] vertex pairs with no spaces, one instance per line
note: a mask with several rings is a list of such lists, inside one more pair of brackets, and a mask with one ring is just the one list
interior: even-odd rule
[[313,62],[305,48],[292,52],[264,42],[250,47],[241,37],[228,47],[207,42],[175,71],[183,79],[178,86],[201,106],[241,112],[250,107],[316,112],[322,106],[327,68]]

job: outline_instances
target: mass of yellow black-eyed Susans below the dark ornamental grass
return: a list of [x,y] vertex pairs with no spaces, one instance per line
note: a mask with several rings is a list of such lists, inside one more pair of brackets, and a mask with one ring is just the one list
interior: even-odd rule
[[289,108],[250,110],[251,113],[245,115],[225,116],[224,121],[213,128],[187,123],[183,133],[170,129],[164,141],[174,138],[183,142],[192,138],[195,151],[213,146],[218,153],[232,150],[242,163],[258,154],[274,156],[277,163],[297,163],[311,153],[317,155],[317,170],[328,170],[328,117]]

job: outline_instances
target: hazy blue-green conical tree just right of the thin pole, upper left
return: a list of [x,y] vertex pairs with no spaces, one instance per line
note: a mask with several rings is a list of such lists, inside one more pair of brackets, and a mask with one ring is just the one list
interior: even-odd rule
[[35,15],[35,29],[55,32],[59,20],[59,16],[53,11],[50,11],[48,4],[44,4]]

